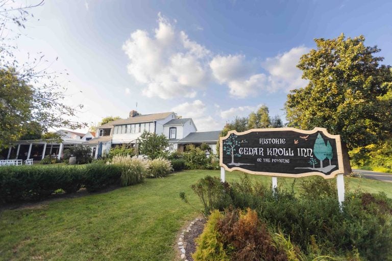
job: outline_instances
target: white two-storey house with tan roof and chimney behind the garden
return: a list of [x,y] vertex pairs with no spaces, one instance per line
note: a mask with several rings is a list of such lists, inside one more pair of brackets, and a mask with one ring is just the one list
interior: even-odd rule
[[[168,139],[168,150],[183,151],[186,144],[207,142],[216,153],[219,132],[205,132],[195,135],[197,127],[193,120],[191,118],[178,119],[174,112],[140,115],[132,110],[127,119],[114,120],[96,127],[96,137],[84,142],[84,144],[90,147],[96,158],[99,156],[99,152],[101,155],[108,153],[111,147],[135,146],[137,138],[144,131],[158,135],[164,134]],[[100,146],[102,147],[100,148]]]

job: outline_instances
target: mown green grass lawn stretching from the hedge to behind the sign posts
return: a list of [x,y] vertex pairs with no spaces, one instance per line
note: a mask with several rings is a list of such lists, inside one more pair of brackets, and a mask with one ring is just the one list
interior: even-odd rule
[[[185,191],[192,205],[201,209],[190,185],[206,175],[219,176],[219,171],[183,171],[107,193],[3,211],[0,260],[173,260],[178,232],[200,215],[181,201],[179,193]],[[240,175],[226,172],[229,182]],[[271,177],[250,177],[271,183]],[[278,184],[289,188],[292,180],[278,178]],[[392,184],[387,182],[345,182],[351,189],[360,185],[364,191],[384,191],[392,197]]]

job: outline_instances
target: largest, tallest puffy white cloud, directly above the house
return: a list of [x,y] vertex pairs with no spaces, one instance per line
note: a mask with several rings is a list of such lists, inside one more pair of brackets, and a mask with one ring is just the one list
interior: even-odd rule
[[160,14],[154,33],[137,30],[122,46],[130,59],[128,72],[145,86],[142,93],[148,97],[194,97],[208,82],[210,51]]

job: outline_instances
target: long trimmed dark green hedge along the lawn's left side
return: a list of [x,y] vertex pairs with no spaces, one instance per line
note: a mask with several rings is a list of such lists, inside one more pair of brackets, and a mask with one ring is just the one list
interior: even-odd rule
[[35,201],[63,189],[67,193],[84,186],[97,191],[119,184],[121,166],[96,162],[84,166],[34,165],[0,167],[0,203]]

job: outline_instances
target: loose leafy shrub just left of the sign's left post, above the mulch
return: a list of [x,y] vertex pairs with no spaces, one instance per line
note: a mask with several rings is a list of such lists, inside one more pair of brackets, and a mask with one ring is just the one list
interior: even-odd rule
[[191,186],[204,206],[204,213],[208,215],[213,210],[223,211],[232,201],[229,196],[230,187],[227,182],[221,182],[218,177],[206,176]]

